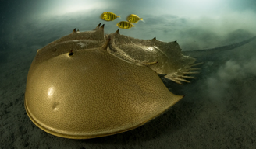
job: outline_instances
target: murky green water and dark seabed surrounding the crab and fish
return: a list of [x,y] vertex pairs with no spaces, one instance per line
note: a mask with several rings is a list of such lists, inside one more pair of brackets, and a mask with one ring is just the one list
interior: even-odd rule
[[[191,1],[0,1],[1,148],[254,148],[256,145],[256,2]],[[112,22],[102,12],[121,16]],[[24,108],[27,73],[37,49],[66,36],[136,14],[143,21],[119,33],[138,39],[177,40],[182,50],[205,50],[240,43],[232,50],[199,54],[201,73],[169,90],[186,95],[135,130],[89,140],[45,133]],[[243,42],[246,40],[246,42]],[[242,43],[241,43],[242,42]],[[193,57],[193,54],[191,55]]]

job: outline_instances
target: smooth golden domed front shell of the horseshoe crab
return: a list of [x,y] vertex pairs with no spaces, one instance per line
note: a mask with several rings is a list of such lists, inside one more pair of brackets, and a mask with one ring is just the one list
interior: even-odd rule
[[[73,38],[73,34],[82,35],[75,31],[70,34]],[[68,40],[56,40],[37,51],[27,76],[27,115],[48,133],[72,139],[122,133],[155,118],[183,97],[169,92],[150,68],[109,54],[109,40],[96,42],[91,35],[62,38]],[[87,47],[81,46],[83,42]],[[88,46],[93,43],[98,47]],[[65,44],[73,44],[73,49]]]

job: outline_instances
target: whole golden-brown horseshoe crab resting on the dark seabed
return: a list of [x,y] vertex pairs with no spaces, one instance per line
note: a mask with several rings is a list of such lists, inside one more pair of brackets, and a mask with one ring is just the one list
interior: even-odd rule
[[193,78],[195,59],[179,44],[137,40],[104,25],[76,29],[37,50],[27,75],[24,106],[30,120],[58,137],[88,139],[122,133],[154,119],[183,98],[158,74]]

